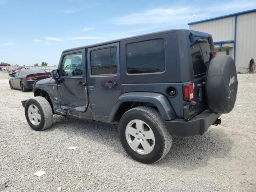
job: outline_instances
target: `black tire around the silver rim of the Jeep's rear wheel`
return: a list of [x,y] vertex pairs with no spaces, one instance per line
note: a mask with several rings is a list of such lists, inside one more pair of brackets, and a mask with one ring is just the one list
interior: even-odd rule
[[[126,140],[126,126],[132,120],[142,120],[154,133],[155,144],[153,150],[148,154],[135,152]],[[154,163],[166,156],[172,146],[172,136],[166,129],[164,120],[160,113],[148,106],[139,106],[128,110],[121,118],[119,123],[119,138],[124,150],[134,160],[146,164]],[[135,138],[134,138],[135,139]]]

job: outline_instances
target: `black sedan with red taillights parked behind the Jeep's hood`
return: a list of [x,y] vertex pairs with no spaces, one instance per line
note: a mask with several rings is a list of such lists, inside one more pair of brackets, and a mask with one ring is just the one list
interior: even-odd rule
[[22,92],[32,89],[34,82],[51,77],[51,73],[43,69],[22,69],[9,75],[10,88],[21,89]]

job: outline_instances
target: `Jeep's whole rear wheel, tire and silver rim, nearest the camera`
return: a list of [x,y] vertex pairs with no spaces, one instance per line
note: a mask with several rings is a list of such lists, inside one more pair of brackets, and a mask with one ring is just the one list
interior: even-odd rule
[[132,108],[122,116],[119,138],[134,160],[148,164],[164,158],[172,146],[172,136],[160,113],[147,106]]

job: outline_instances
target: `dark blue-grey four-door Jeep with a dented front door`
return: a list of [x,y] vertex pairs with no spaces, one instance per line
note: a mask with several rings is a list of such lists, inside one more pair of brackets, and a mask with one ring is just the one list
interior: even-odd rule
[[52,78],[36,82],[22,105],[38,131],[53,114],[118,124],[124,150],[154,163],[172,136],[220,124],[237,86],[234,61],[216,56],[210,34],[167,30],[63,51]]

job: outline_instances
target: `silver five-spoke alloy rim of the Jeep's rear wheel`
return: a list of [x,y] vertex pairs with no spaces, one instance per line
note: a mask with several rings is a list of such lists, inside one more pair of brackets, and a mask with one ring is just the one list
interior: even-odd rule
[[154,133],[150,126],[142,120],[130,121],[126,126],[125,136],[130,148],[138,154],[146,155],[154,149]]

